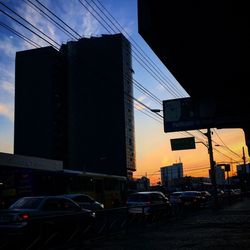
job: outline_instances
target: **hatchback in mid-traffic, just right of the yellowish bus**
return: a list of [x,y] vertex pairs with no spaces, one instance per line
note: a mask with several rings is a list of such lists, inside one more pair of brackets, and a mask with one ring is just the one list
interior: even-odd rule
[[160,191],[140,191],[132,193],[127,200],[129,214],[153,215],[170,212],[171,204]]

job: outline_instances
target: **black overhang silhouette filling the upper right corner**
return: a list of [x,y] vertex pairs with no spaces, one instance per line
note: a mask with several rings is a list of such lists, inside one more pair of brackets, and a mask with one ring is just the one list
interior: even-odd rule
[[139,33],[221,127],[249,127],[250,8],[239,0],[138,0]]

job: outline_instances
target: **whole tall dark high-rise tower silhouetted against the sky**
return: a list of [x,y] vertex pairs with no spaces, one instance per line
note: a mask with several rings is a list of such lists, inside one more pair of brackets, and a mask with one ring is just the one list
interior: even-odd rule
[[17,52],[14,152],[72,170],[135,171],[132,72],[122,34]]

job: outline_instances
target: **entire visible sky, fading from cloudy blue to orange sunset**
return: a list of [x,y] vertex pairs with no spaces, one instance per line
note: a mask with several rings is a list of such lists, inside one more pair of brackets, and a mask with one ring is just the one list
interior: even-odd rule
[[[51,11],[57,15],[64,23],[51,14],[50,17],[73,36],[77,37],[72,30],[85,37],[123,33],[131,42],[136,83],[134,96],[139,101],[135,101],[135,177],[147,176],[152,183],[156,183],[160,180],[160,168],[177,162],[183,163],[184,175],[208,176],[209,155],[204,145],[207,138],[203,134],[206,130],[164,133],[162,118],[146,108],[162,109],[161,101],[187,97],[188,94],[138,34],[136,0],[5,0],[0,4],[0,152],[13,153],[16,51],[50,45],[30,30],[55,47],[74,40],[72,35],[66,33],[58,23],[52,24],[51,18],[35,6],[47,14]],[[149,61],[150,64],[145,63]],[[153,70],[155,68],[164,77],[160,79]],[[247,160],[249,158],[243,130],[212,131],[215,161],[231,162],[231,174],[234,174],[236,164],[242,163],[243,148]],[[191,135],[195,136],[197,142],[202,142],[196,144],[196,149],[171,151],[171,138]]]

